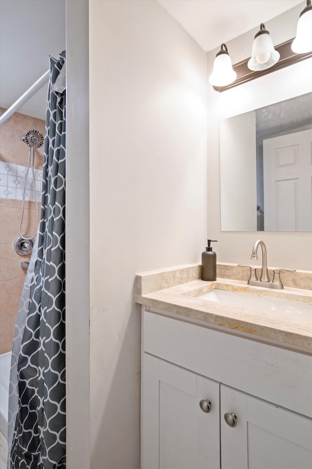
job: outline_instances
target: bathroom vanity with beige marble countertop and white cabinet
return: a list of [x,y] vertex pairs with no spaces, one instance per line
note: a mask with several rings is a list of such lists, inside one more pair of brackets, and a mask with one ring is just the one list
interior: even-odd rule
[[[137,276],[141,468],[312,467],[312,274],[285,274],[282,291],[242,276],[229,264],[216,282],[197,264]],[[213,290],[273,306],[201,296]]]

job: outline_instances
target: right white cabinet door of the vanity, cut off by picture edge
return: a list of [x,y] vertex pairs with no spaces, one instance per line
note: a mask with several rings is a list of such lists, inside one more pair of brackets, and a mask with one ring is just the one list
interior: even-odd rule
[[222,469],[312,468],[312,419],[221,384],[220,420]]

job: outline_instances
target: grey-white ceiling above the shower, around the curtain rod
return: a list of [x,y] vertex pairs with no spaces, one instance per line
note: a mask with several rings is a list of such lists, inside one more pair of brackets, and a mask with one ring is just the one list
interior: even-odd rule
[[[8,108],[65,49],[65,0],[0,0],[0,107]],[[48,85],[18,112],[45,119]]]

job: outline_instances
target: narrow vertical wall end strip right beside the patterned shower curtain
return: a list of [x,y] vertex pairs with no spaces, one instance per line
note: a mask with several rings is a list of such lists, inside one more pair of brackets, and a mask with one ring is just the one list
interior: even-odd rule
[[88,9],[88,0],[66,0],[67,469],[89,467]]

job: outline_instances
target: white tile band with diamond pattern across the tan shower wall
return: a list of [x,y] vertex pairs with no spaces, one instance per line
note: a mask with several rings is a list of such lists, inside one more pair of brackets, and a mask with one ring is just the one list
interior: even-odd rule
[[[27,166],[0,161],[0,198],[22,200]],[[25,185],[25,200],[41,201],[42,170],[34,169],[36,199],[32,170],[29,168]]]

